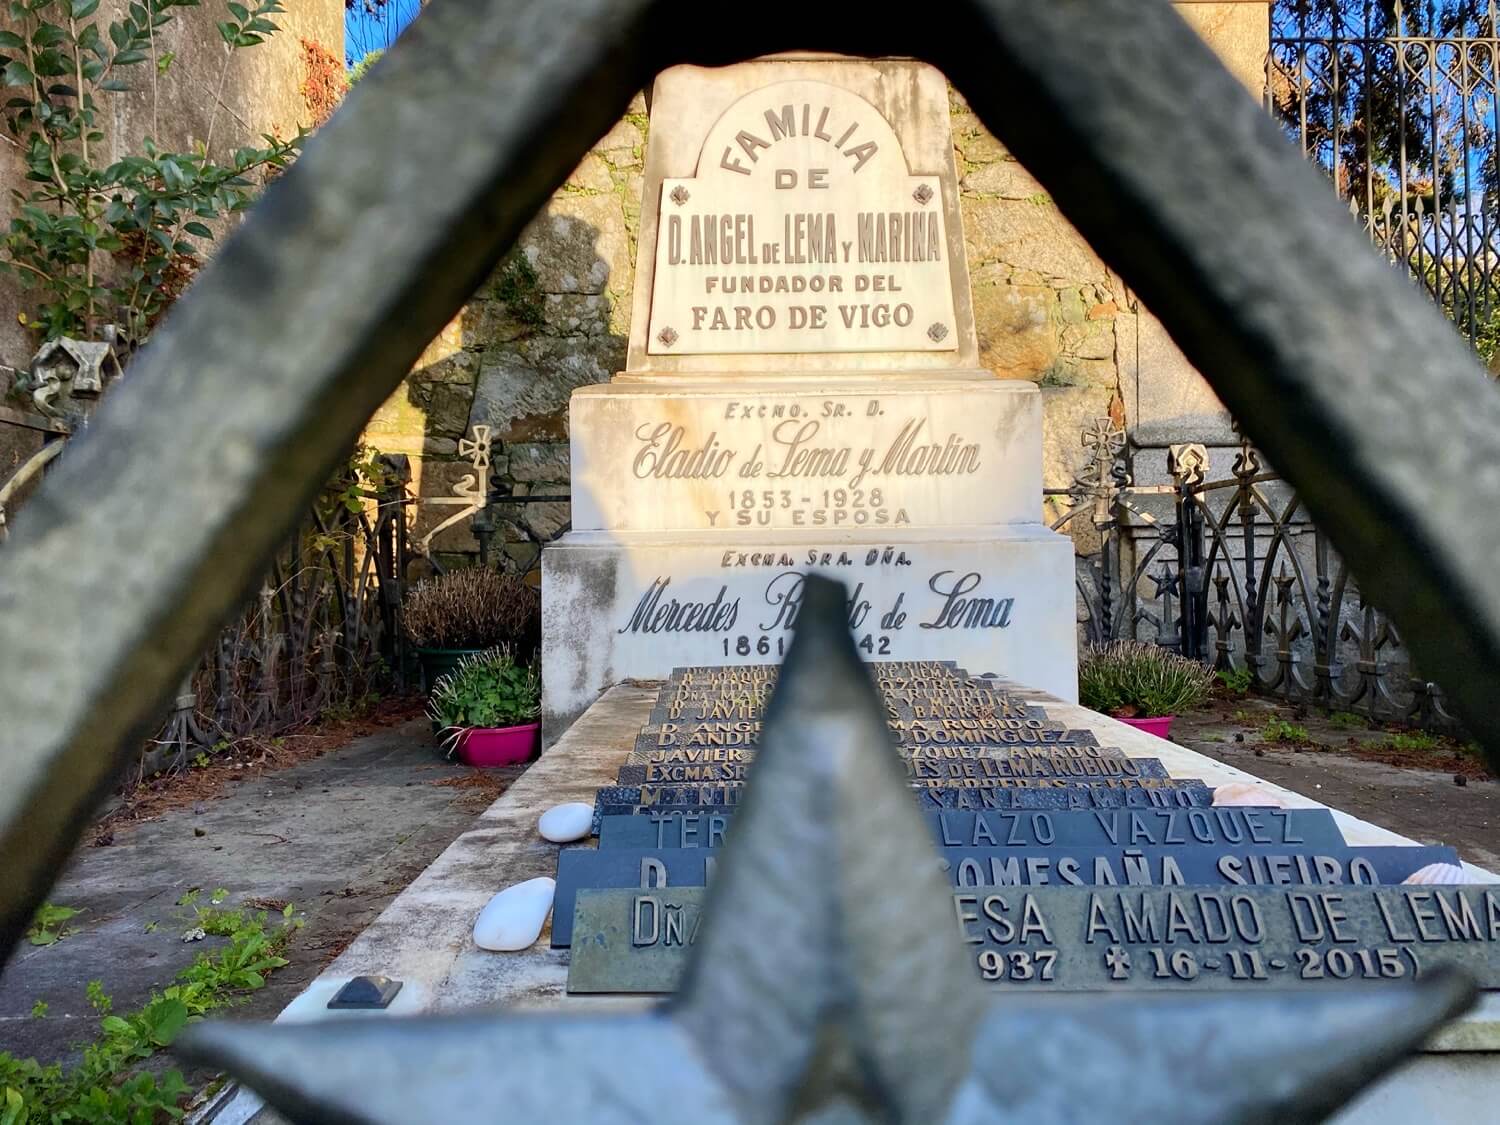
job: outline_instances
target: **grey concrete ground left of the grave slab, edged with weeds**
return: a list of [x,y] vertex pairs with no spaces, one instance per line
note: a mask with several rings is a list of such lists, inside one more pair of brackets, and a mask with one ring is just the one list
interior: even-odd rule
[[[220,944],[182,940],[194,912],[177,902],[195,886],[201,904],[222,886],[228,906],[285,900],[304,914],[291,964],[242,1010],[274,1016],[483,812],[494,789],[435,784],[470,772],[442,760],[416,720],[248,777],[220,800],[118,826],[111,846],[82,848],[48,896],[82,908],[70,920],[76,933],[22,942],[0,975],[0,1050],[70,1058],[96,1029],[88,981],[102,981],[117,1012],[130,1011]],[[45,1018],[32,1016],[36,1000]]]

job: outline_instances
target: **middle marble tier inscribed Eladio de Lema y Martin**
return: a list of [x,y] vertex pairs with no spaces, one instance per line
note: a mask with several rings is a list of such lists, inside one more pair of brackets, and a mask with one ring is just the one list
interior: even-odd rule
[[574,396],[572,426],[574,531],[879,536],[1041,520],[1030,382],[626,382]]

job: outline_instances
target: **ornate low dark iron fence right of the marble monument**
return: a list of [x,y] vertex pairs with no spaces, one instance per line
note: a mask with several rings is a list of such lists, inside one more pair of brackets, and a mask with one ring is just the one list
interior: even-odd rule
[[1083,441],[1074,484],[1047,494],[1053,526],[1086,544],[1082,642],[1149,640],[1260,694],[1456,728],[1395,624],[1248,442],[1226,478],[1208,478],[1202,446],[1178,446],[1173,483],[1137,488],[1119,429],[1101,420]]

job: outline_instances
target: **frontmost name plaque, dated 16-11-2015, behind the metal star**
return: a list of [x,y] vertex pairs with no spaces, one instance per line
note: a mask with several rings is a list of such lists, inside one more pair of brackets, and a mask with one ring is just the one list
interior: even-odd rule
[[[580,891],[568,992],[672,992],[702,902],[696,886]],[[954,894],[954,924],[978,980],[1036,993],[1348,987],[1438,966],[1500,987],[1490,885],[975,888]]]

